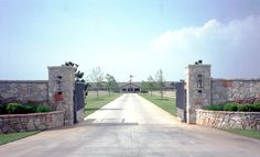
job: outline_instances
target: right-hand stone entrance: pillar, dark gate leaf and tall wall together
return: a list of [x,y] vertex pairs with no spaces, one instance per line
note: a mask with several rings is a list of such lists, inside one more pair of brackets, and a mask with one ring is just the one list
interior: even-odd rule
[[196,110],[229,101],[252,103],[260,100],[260,79],[213,79],[212,65],[188,65],[185,80],[176,83],[177,116],[196,123]]

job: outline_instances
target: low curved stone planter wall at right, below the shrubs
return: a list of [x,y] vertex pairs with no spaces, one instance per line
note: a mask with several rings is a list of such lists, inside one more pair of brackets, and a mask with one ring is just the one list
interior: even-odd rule
[[217,128],[260,131],[260,112],[196,110],[196,124]]

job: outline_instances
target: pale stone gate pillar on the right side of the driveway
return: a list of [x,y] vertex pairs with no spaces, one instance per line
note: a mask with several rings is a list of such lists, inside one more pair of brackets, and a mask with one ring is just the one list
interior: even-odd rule
[[188,65],[186,67],[187,123],[196,123],[196,109],[210,104],[212,65]]

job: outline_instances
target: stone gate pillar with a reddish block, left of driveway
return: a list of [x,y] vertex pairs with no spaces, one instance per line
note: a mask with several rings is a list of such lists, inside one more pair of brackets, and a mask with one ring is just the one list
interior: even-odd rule
[[57,111],[65,111],[65,125],[74,124],[74,67],[48,67],[48,100]]

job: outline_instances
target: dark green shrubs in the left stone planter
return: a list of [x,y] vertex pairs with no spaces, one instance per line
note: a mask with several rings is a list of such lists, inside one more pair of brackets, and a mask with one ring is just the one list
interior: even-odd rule
[[4,111],[1,114],[25,114],[25,113],[36,113],[36,112],[50,112],[51,109],[46,105],[36,105],[33,103],[8,103]]

